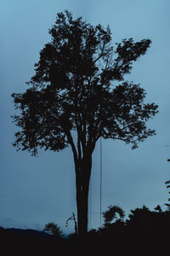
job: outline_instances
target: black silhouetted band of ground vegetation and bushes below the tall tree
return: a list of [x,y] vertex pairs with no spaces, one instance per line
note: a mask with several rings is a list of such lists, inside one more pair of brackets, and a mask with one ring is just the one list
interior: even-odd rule
[[[154,255],[167,252],[170,211],[157,206],[131,210],[127,219],[121,207],[110,206],[103,212],[104,224],[90,230],[83,239],[71,234],[62,237],[57,224],[46,225],[54,235],[36,230],[0,229],[1,250],[4,255]],[[59,237],[59,234],[61,237]],[[129,254],[129,255],[130,255]]]

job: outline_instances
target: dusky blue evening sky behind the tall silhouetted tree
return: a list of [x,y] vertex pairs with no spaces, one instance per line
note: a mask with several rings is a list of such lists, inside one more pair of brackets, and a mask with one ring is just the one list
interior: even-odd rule
[[[74,223],[65,221],[77,212],[74,162],[71,148],[32,157],[12,146],[17,128],[11,94],[24,92],[34,75],[39,51],[50,41],[48,29],[65,9],[96,26],[109,25],[113,42],[123,38],[150,38],[146,55],[133,64],[125,79],[141,84],[146,102],[159,105],[149,121],[156,130],[132,150],[130,145],[102,140],[102,212],[118,205],[127,213],[136,207],[163,210],[170,179],[170,1],[169,0],[6,0],[0,3],[0,226],[42,230],[48,222],[65,233]],[[99,143],[93,154],[89,193],[89,228],[99,227]]]

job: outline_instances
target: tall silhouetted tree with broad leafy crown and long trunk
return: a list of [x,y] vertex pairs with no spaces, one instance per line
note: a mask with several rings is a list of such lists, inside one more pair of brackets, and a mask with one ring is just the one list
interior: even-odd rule
[[[92,154],[99,137],[122,140],[133,148],[154,130],[145,123],[157,112],[145,104],[139,84],[128,83],[133,61],[144,55],[150,39],[111,43],[111,29],[91,26],[68,11],[49,30],[51,42],[40,51],[36,74],[24,93],[14,93],[14,147],[37,154],[71,147],[76,172],[78,235],[88,231],[88,186]],[[114,85],[114,83],[121,83]]]

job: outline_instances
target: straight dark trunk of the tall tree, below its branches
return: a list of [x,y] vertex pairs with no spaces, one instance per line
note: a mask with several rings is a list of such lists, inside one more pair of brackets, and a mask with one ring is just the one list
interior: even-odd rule
[[91,168],[92,155],[83,157],[76,164],[77,227],[80,238],[83,238],[88,233],[88,190]]

